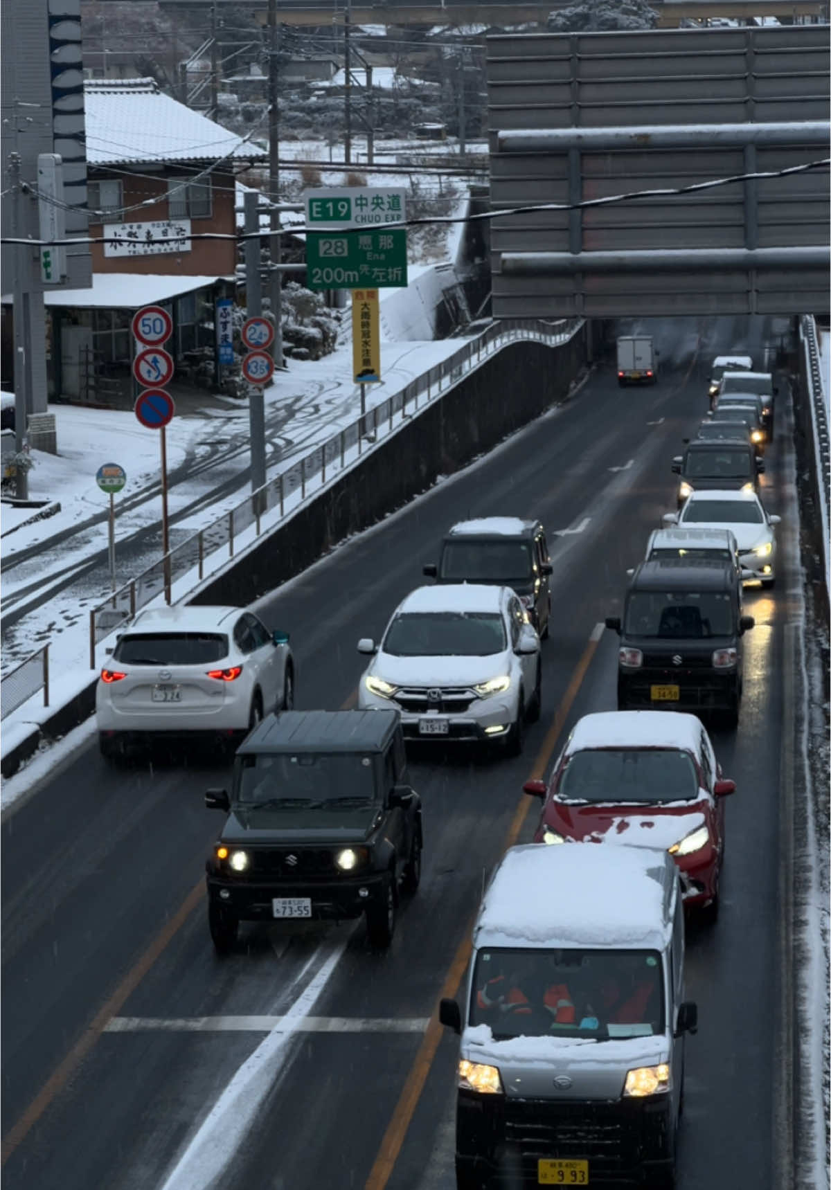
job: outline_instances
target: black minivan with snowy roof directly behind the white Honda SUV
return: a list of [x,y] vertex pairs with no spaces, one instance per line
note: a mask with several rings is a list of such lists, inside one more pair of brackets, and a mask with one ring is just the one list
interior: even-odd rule
[[460,521],[442,541],[438,563],[427,563],[423,569],[439,583],[513,588],[541,638],[548,637],[552,568],[545,530],[538,520],[483,516]]

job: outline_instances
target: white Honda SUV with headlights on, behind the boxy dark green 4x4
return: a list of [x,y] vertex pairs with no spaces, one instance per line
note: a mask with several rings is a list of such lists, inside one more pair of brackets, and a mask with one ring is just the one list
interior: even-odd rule
[[398,707],[406,737],[523,749],[539,718],[539,637],[507,587],[419,587],[393,613],[358,685],[363,710]]

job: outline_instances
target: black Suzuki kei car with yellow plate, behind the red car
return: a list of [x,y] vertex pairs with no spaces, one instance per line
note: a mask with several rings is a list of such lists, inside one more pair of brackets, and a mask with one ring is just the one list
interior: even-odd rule
[[711,559],[642,562],[626,591],[620,637],[618,710],[724,713],[735,726],[742,699],[742,615],[736,566]]

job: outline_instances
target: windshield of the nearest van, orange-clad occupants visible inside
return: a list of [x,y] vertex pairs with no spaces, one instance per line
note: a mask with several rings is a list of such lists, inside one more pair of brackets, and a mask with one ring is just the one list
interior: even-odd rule
[[587,1036],[601,1041],[663,1033],[657,951],[482,948],[470,1025],[496,1040]]

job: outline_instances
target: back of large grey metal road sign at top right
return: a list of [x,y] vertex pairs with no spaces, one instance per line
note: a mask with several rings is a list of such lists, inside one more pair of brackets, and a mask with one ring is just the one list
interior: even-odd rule
[[487,74],[498,318],[829,309],[826,26],[502,35]]

